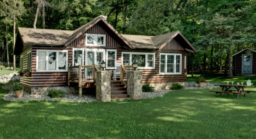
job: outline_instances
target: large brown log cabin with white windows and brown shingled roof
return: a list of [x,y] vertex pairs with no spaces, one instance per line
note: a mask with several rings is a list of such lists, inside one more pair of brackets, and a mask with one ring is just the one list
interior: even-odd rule
[[165,89],[173,82],[187,81],[187,54],[195,52],[180,31],[157,36],[119,34],[102,15],[76,30],[18,28],[14,50],[20,55],[21,71],[31,72],[30,77],[20,78],[31,94],[49,88],[76,91],[68,70],[78,70],[77,65],[99,70],[101,61],[106,61],[106,70],[114,70],[118,63],[129,68],[136,60],[137,69],[143,71],[142,83]]

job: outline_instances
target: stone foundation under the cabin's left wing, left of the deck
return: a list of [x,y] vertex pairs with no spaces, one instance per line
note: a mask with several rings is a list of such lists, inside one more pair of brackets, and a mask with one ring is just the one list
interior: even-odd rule
[[24,90],[32,95],[46,94],[48,89],[63,90],[67,94],[76,94],[77,89],[70,86],[54,86],[54,87],[28,87],[24,86]]

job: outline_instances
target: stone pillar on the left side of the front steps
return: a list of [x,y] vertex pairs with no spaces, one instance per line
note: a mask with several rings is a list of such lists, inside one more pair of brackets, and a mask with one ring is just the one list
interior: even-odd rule
[[96,99],[101,102],[111,101],[111,71],[96,71]]

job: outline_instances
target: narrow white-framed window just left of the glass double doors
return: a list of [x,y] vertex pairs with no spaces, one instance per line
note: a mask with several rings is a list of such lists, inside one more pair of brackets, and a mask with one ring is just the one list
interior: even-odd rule
[[84,48],[73,48],[72,65],[84,65]]

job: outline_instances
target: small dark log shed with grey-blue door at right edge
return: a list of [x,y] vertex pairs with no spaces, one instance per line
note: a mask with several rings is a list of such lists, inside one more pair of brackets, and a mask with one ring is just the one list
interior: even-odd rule
[[250,48],[243,49],[232,55],[233,74],[250,75],[256,74],[256,51]]

